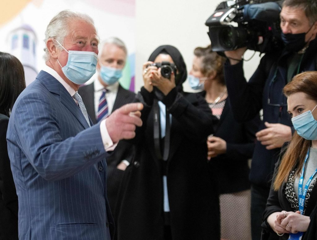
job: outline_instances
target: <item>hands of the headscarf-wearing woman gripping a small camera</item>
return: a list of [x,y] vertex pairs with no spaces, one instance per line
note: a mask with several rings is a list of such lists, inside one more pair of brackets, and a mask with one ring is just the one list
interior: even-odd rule
[[[176,87],[175,73],[172,72],[171,79],[162,77],[161,69],[155,66],[148,66],[153,62],[148,61],[143,64],[143,81],[144,88],[148,92],[153,91],[153,86],[157,87],[165,96]],[[148,66],[148,67],[147,67]]]

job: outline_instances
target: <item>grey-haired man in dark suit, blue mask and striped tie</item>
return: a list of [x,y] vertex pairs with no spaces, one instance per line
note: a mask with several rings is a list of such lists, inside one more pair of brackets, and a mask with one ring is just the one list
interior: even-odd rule
[[[78,90],[87,113],[94,123],[107,118],[124,104],[133,102],[136,95],[124,89],[118,82],[126,64],[127,49],[124,42],[119,38],[110,37],[101,44],[99,50],[98,78],[91,84],[81,86]],[[134,146],[120,142],[115,151],[106,159],[107,197],[115,220],[116,208],[120,202],[118,189],[122,183],[123,171],[130,164],[133,156]]]

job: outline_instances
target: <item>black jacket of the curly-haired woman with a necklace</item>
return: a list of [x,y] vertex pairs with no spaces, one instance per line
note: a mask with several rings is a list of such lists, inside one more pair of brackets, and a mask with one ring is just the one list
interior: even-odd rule
[[[205,93],[202,92],[202,95],[205,96]],[[259,114],[252,120],[237,122],[233,117],[229,97],[226,99],[214,136],[226,141],[227,151],[210,159],[210,167],[218,176],[220,194],[250,188],[248,160],[253,154],[259,124]]]

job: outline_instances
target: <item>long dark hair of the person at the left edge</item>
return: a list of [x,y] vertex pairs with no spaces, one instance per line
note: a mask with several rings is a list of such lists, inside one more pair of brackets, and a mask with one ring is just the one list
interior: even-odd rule
[[0,52],[0,114],[9,116],[14,102],[24,88],[22,63],[15,56]]

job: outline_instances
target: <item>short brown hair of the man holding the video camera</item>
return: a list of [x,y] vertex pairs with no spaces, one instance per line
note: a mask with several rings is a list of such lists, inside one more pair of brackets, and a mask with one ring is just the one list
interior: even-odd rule
[[310,24],[317,21],[316,0],[284,0],[282,7],[301,8],[304,10]]

